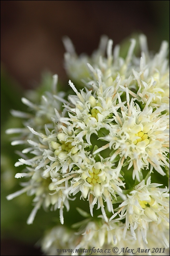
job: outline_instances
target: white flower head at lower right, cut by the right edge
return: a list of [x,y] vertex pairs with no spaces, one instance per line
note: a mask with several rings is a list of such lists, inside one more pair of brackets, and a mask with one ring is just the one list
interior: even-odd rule
[[127,195],[128,199],[119,205],[119,219],[126,218],[125,233],[130,228],[132,237],[136,240],[134,230],[140,230],[143,242],[146,244],[148,244],[149,222],[157,223],[157,225],[169,222],[169,194],[167,188],[157,188],[160,185],[151,183],[150,176],[146,185],[144,180],[140,182]]

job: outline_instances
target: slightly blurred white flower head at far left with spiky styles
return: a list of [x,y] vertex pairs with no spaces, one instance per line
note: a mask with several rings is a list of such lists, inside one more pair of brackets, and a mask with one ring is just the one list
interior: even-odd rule
[[15,177],[27,177],[29,181],[22,184],[24,186],[22,190],[8,195],[7,199],[11,200],[25,192],[27,192],[28,195],[35,195],[33,199],[35,207],[27,223],[33,223],[36,212],[41,205],[43,205],[45,209],[49,208],[51,205],[51,210],[60,209],[60,222],[63,224],[63,207],[65,205],[67,210],[69,210],[69,196],[66,197],[66,194],[63,193],[66,189],[64,185],[54,186],[53,184],[56,180],[62,179],[61,174],[58,173],[62,165],[60,164],[59,158],[55,156],[54,148],[59,145],[61,153],[65,151],[62,150],[60,143],[54,142],[54,140],[57,140],[58,135],[56,130],[50,132],[47,126],[45,126],[46,134],[40,134],[34,131],[33,128],[28,128],[35,137],[39,138],[39,143],[28,139],[30,147],[26,148],[24,151],[25,153],[30,152],[35,156],[31,159],[27,159],[27,156],[22,154],[25,159],[19,159],[19,162],[16,162],[15,166],[28,165],[30,167],[26,168],[25,173],[18,173]]

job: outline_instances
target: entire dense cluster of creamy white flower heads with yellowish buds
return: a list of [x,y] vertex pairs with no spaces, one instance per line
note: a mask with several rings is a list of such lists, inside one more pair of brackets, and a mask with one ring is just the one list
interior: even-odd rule
[[[167,182],[169,168],[167,43],[152,56],[141,35],[141,57],[134,57],[132,40],[123,59],[118,46],[112,53],[113,42],[106,37],[92,57],[78,57],[70,40],[64,42],[66,71],[76,84],[83,82],[84,88],[78,91],[69,80],[74,94],[66,99],[66,94],[54,89],[55,75],[52,93],[43,96],[41,104],[22,100],[34,114],[13,111],[27,119],[25,128],[7,130],[8,134],[21,133],[12,145],[27,145],[15,164],[27,166],[25,172],[16,174],[16,178],[27,177],[27,182],[7,198],[24,192],[35,195],[28,224],[41,205],[59,209],[63,224],[63,208],[69,210],[75,195],[82,199],[80,205],[88,201],[91,218],[97,204],[102,225],[93,217],[84,233],[80,232],[80,242],[71,242],[77,248],[126,244],[127,240],[140,244],[141,239],[148,244],[155,231],[167,248],[168,189],[151,183],[152,177],[159,180],[162,176]],[[63,239],[69,236],[65,231]],[[60,237],[55,240],[52,234],[58,231],[51,232],[42,247],[48,255],[57,255],[50,248],[58,245]]]

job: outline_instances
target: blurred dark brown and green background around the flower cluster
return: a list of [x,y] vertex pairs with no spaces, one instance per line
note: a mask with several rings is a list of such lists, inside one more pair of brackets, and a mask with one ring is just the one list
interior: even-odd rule
[[[58,74],[67,90],[62,37],[68,35],[77,52],[91,54],[102,34],[114,45],[133,33],[148,37],[150,50],[169,41],[169,1],[1,1],[1,255],[41,255],[34,244],[58,213],[37,213],[26,220],[32,198],[7,201],[20,188],[14,178],[18,156],[5,129],[21,126],[10,110],[25,111],[25,90],[38,88],[45,71]],[[70,213],[71,214],[71,213]]]

